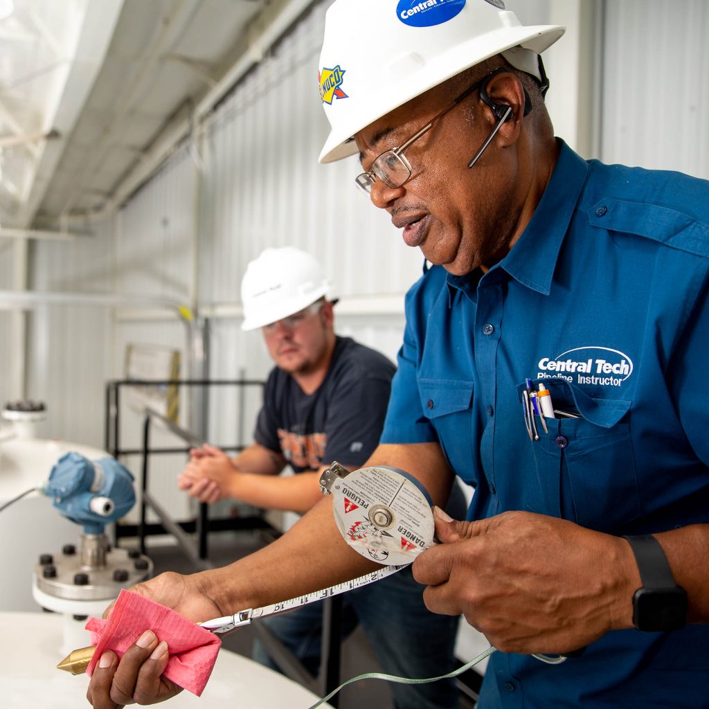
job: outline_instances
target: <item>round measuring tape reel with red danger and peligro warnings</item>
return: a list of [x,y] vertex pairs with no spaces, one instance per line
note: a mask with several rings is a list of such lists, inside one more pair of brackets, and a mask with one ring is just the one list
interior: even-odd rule
[[403,470],[387,466],[350,472],[334,462],[320,476],[333,496],[333,514],[350,547],[379,564],[411,564],[433,545],[432,501]]

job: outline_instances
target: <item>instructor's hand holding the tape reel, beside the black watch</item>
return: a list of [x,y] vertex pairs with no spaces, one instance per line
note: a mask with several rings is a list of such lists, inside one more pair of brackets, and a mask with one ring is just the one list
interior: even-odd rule
[[413,563],[434,613],[462,613],[498,649],[526,654],[571,652],[632,627],[640,575],[625,540],[525,512],[473,523],[435,513],[442,544]]

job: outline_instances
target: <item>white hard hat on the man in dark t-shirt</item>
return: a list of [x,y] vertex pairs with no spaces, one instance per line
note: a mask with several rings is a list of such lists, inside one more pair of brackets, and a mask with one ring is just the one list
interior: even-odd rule
[[305,251],[293,246],[264,249],[248,264],[241,281],[241,329],[255,330],[287,318],[331,296],[331,289],[323,267]]

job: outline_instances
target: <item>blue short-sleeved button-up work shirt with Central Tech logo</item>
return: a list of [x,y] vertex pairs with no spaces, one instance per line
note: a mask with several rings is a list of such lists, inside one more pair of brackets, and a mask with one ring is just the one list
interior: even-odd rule
[[[438,442],[469,519],[530,510],[615,535],[709,523],[709,183],[562,144],[537,211],[484,275],[406,298],[382,442]],[[523,415],[525,379],[577,418]],[[631,599],[628,599],[631,603]],[[709,706],[709,627],[610,632],[548,666],[496,653],[490,706]]]

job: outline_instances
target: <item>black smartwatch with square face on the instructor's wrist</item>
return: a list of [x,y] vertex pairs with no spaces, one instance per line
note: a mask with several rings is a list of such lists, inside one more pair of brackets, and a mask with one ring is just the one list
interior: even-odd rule
[[635,554],[642,588],[632,597],[632,624],[651,632],[679,630],[687,623],[687,592],[677,586],[662,547],[652,535],[625,537]]

